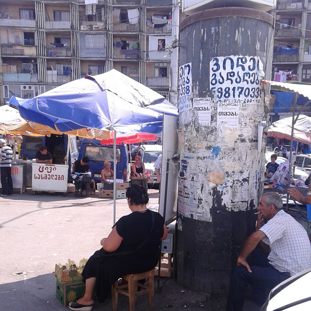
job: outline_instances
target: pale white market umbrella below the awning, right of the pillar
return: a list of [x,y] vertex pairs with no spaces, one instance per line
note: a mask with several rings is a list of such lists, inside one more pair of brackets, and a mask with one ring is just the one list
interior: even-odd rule
[[[284,118],[273,122],[264,129],[268,137],[285,138],[291,140],[293,118]],[[311,118],[300,115],[294,124],[293,140],[311,144]]]

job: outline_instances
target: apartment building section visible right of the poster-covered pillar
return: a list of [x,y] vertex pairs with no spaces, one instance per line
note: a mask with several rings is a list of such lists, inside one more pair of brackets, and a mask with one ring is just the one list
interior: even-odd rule
[[[311,83],[311,0],[277,0],[273,51],[272,80],[279,82]],[[294,96],[297,101],[298,96]],[[271,121],[292,115],[287,112],[275,113],[275,98],[270,102]],[[298,99],[296,111],[300,111]],[[311,116],[311,106],[303,109]]]

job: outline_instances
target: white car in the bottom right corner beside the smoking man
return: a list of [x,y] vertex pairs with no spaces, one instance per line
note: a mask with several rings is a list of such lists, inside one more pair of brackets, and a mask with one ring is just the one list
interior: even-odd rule
[[311,268],[278,284],[269,294],[260,311],[311,310]]

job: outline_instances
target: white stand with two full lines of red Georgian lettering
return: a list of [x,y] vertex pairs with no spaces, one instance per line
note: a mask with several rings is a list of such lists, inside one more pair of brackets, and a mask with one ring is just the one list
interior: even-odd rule
[[68,165],[32,164],[32,191],[62,192],[67,195]]

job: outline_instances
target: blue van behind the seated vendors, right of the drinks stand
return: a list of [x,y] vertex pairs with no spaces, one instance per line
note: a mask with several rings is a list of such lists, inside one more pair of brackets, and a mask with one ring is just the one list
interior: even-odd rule
[[[101,171],[104,169],[104,161],[111,163],[113,170],[113,145],[101,145],[100,140],[83,138],[80,143],[79,159],[84,156],[89,158],[89,168],[93,179],[100,183]],[[117,145],[117,179],[127,180],[127,147],[123,143]]]

